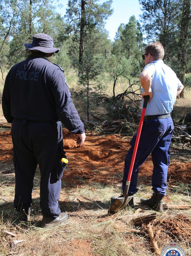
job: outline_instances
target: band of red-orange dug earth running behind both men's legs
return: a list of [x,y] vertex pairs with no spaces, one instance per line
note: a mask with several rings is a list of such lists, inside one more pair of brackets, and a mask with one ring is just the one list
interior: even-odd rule
[[[63,129],[63,141],[69,159],[63,180],[73,186],[86,180],[87,183],[121,183],[124,159],[130,147],[130,137],[120,135],[87,135],[81,147],[76,147],[75,135]],[[13,156],[13,144],[10,131],[0,131],[0,160],[9,161]],[[152,176],[151,156],[139,168],[139,184],[150,183]],[[168,179],[190,184],[191,164],[172,162],[168,170]]]

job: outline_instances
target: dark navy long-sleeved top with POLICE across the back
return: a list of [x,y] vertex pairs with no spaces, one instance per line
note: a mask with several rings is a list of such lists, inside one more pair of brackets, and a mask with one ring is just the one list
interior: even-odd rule
[[2,108],[8,123],[13,118],[37,122],[60,120],[72,133],[84,133],[62,69],[43,58],[27,58],[10,69]]

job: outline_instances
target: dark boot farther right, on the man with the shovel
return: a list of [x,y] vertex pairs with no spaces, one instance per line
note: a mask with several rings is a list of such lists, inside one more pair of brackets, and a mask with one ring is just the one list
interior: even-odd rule
[[164,197],[164,195],[157,193],[157,191],[153,190],[153,195],[151,196],[151,198],[146,199],[146,198],[141,198],[140,199],[140,203],[144,206],[148,206],[151,209],[155,210],[155,211],[159,211],[162,212],[162,198]]

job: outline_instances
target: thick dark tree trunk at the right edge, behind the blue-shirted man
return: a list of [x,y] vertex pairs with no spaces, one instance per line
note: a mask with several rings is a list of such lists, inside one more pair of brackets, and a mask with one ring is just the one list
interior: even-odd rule
[[[183,0],[182,4],[182,19],[180,25],[180,41],[178,62],[180,63],[179,77],[182,84],[185,81],[186,62],[187,62],[187,48],[188,48],[188,34],[190,25],[190,0]],[[184,90],[180,93],[180,98],[184,98]]]

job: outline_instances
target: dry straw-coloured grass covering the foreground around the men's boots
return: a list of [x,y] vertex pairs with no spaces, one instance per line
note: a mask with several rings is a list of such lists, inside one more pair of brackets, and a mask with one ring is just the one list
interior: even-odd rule
[[[1,165],[0,171],[5,169],[11,173],[13,165],[10,162]],[[108,216],[110,197],[120,193],[119,187],[103,186],[99,183],[66,187],[63,181],[59,204],[62,211],[68,212],[68,221],[66,224],[46,230],[38,227],[38,221],[42,218],[39,209],[39,169],[34,179],[33,216],[29,217],[27,224],[17,225],[15,222],[17,213],[13,209],[14,186],[5,185],[7,182],[14,183],[14,175],[11,181],[9,179],[9,176],[1,177],[0,175],[0,255],[154,255],[146,233],[135,234],[127,231],[133,228],[144,230],[141,227],[134,227],[131,219],[135,217],[135,209],[140,208],[138,205],[140,198],[150,196],[150,186],[139,184],[138,193],[135,195],[135,209],[124,209],[115,215]],[[168,204],[172,205],[190,202],[186,194],[168,191],[168,197],[171,199]],[[144,210],[137,216],[149,213],[153,211]],[[191,216],[190,210],[172,211],[168,209],[163,213],[158,213],[157,220],[176,218],[180,213],[187,217]],[[4,230],[13,232],[16,237],[6,235]],[[160,249],[172,240],[167,234],[168,231],[163,232],[164,241],[158,240]],[[11,249],[10,245],[14,240],[25,241],[16,244]],[[175,240],[184,248],[186,255],[191,255],[189,237],[186,240],[177,237]]]

